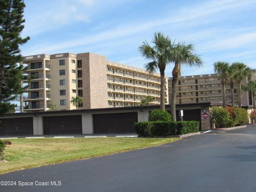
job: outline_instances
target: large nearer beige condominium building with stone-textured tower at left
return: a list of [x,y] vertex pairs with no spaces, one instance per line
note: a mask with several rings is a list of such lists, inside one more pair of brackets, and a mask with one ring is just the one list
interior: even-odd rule
[[[159,104],[160,75],[111,62],[94,53],[38,54],[23,57],[28,66],[26,92],[19,98],[21,111],[48,110],[51,103],[58,110],[76,109],[70,103],[83,98],[79,109],[138,106],[151,95]],[[165,101],[168,103],[166,78]]]

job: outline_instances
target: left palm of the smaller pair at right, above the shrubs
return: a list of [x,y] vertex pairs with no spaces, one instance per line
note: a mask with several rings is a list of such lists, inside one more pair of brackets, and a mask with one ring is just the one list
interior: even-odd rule
[[229,74],[229,64],[227,62],[218,61],[214,63],[214,72],[221,76],[222,85],[222,106],[226,107],[226,81]]

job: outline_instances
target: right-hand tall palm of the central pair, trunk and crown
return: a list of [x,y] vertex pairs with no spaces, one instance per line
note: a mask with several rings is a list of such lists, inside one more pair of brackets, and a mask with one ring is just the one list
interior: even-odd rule
[[176,85],[178,82],[179,73],[182,65],[188,65],[190,67],[201,67],[201,58],[193,53],[194,45],[185,43],[178,43],[171,50],[171,61],[174,62],[174,68],[172,70],[172,93],[171,93],[171,116],[173,121],[176,121]]

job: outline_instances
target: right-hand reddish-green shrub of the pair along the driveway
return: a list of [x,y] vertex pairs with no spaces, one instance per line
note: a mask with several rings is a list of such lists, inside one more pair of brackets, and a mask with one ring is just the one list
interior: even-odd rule
[[235,126],[248,124],[248,113],[246,109],[234,108],[233,122]]

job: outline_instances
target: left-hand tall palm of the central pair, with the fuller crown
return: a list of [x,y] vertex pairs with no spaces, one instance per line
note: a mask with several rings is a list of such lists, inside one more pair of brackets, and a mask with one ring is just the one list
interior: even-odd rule
[[160,109],[165,110],[165,77],[164,71],[167,64],[171,61],[171,50],[173,49],[173,44],[168,36],[164,36],[163,33],[158,32],[154,34],[152,40],[154,44],[151,47],[147,41],[142,42],[139,47],[139,51],[142,57],[148,60],[153,60],[145,64],[145,68],[149,73],[155,73],[157,68],[161,75],[160,84]]

